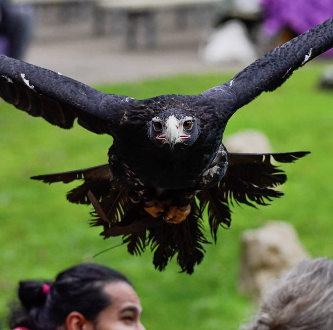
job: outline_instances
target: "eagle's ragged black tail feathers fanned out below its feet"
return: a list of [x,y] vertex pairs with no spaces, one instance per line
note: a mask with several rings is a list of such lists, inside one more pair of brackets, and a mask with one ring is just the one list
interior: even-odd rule
[[[104,225],[105,230],[102,235],[105,237],[115,234],[119,226],[125,230],[132,226],[133,231],[123,235],[123,242],[127,243],[129,253],[141,255],[147,247],[150,247],[154,252],[154,266],[160,271],[164,270],[167,263],[176,255],[181,270],[191,274],[195,264],[199,264],[204,256],[205,250],[202,244],[209,243],[203,234],[203,220],[195,201],[191,204],[191,210],[187,218],[179,224],[166,223],[162,218],[153,218],[150,215],[143,218],[145,223],[131,217],[132,221],[137,223],[136,228],[133,227],[133,222],[125,224],[129,222],[127,216],[118,223],[118,226],[106,224],[101,218],[94,221],[98,221],[95,222],[98,225]],[[140,210],[135,210],[135,213],[138,217]],[[147,217],[150,217],[150,220]]]

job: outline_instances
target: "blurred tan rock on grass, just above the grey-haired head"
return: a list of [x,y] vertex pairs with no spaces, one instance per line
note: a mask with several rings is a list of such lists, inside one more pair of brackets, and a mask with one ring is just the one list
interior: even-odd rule
[[241,236],[238,290],[259,302],[279,275],[309,257],[295,228],[269,221]]

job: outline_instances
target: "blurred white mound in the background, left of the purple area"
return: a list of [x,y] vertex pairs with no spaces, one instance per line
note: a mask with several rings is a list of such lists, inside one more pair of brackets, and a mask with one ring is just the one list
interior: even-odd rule
[[250,64],[257,59],[255,47],[247,37],[246,27],[239,20],[227,21],[216,28],[201,50],[207,63]]

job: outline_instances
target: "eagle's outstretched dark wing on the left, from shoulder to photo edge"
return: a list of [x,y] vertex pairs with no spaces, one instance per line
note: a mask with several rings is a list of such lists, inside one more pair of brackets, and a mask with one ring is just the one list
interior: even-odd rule
[[5,55],[0,55],[0,97],[64,129],[71,128],[77,118],[79,125],[97,134],[110,134],[110,126],[136,102]]

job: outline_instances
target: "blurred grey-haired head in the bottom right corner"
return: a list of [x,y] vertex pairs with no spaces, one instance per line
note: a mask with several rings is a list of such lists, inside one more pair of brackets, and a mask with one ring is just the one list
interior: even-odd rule
[[333,260],[305,260],[286,272],[264,296],[242,330],[333,329]]

